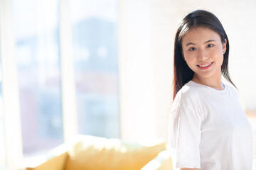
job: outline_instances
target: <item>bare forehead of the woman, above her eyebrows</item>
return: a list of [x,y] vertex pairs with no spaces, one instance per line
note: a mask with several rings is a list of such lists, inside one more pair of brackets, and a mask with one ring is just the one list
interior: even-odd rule
[[188,33],[183,36],[181,43],[182,45],[185,45],[189,42],[200,44],[206,42],[207,40],[215,40],[221,42],[220,35],[214,30],[211,30],[210,28],[196,27],[188,30]]

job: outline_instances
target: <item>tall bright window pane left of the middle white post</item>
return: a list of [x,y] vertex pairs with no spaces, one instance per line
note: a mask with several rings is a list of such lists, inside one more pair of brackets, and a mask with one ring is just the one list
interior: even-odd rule
[[63,143],[59,6],[57,0],[12,2],[23,154],[29,155]]

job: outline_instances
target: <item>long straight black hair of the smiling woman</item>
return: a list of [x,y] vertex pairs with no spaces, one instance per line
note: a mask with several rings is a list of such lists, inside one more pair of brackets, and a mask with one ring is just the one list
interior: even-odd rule
[[[230,79],[228,74],[228,53],[229,53],[229,42],[228,35],[225,33],[225,30],[218,20],[218,18],[208,11],[196,10],[183,18],[183,21],[178,26],[178,30],[176,31],[175,41],[174,41],[174,94],[173,99],[175,98],[178,91],[182,88],[182,86],[193,78],[194,72],[188,67],[186,61],[183,59],[183,52],[181,41],[183,36],[188,33],[188,30],[195,27],[204,27],[210,28],[214,30],[216,33],[220,35],[220,39],[222,42],[226,43],[226,51],[223,55],[223,64],[221,66],[221,72],[223,77],[228,80],[231,84],[233,82]],[[235,86],[235,84],[233,84]]]

